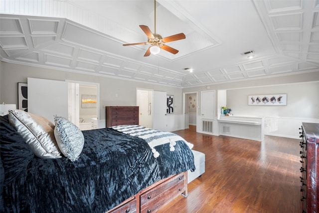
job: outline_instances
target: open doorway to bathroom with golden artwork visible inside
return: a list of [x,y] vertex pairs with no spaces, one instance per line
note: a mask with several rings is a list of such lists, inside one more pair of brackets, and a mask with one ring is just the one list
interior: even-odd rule
[[100,85],[68,81],[68,119],[80,130],[99,128]]

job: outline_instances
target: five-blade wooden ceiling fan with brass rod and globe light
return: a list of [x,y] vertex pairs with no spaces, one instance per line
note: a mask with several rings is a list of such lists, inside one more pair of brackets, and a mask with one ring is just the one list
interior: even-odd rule
[[154,33],[152,33],[151,29],[146,25],[140,25],[140,27],[142,28],[144,33],[148,36],[148,42],[128,43],[128,44],[123,44],[123,46],[151,44],[151,46],[147,49],[144,56],[149,56],[151,55],[151,53],[157,54],[160,52],[160,49],[166,50],[172,54],[176,54],[178,50],[170,46],[167,46],[165,43],[186,38],[184,33],[178,33],[178,34],[167,36],[164,38],[161,37],[160,34],[156,33],[156,0],[154,0],[154,29],[155,29]]

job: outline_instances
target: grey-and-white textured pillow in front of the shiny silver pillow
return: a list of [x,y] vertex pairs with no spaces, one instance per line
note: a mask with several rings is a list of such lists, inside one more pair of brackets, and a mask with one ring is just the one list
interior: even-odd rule
[[60,151],[70,161],[78,160],[84,146],[82,131],[66,118],[55,116],[54,121],[54,136]]

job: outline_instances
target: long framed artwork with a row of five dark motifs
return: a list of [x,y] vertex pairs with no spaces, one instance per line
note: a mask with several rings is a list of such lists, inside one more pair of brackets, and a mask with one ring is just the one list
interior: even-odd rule
[[287,94],[248,95],[248,105],[285,106],[287,105]]

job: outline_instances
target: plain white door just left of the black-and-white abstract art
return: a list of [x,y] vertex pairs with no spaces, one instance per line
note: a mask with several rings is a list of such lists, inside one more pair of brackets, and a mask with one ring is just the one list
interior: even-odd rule
[[153,129],[166,131],[166,92],[153,92]]

